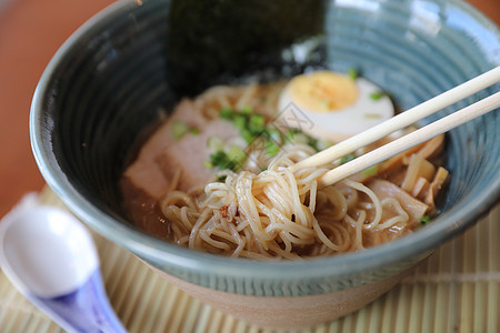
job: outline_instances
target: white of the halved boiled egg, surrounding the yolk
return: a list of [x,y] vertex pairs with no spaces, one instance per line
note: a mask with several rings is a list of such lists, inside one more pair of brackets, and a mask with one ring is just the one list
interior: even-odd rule
[[[280,94],[278,107],[281,113],[290,112],[293,109],[293,112],[301,113],[300,118],[307,119],[309,125],[300,127],[300,123],[297,125],[301,131],[318,139],[338,142],[368,130],[394,114],[394,107],[389,97],[383,94],[378,100],[371,98],[372,93],[382,91],[379,87],[362,78],[356,79],[356,87],[358,98],[353,104],[340,110],[314,112],[297,103],[290,93],[290,84],[288,84]],[[291,125],[293,127],[293,124]]]

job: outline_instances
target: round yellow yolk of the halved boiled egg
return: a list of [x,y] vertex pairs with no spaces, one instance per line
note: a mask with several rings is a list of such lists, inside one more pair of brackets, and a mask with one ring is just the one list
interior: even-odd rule
[[298,75],[290,81],[289,87],[293,102],[313,112],[341,110],[358,99],[354,80],[329,71]]

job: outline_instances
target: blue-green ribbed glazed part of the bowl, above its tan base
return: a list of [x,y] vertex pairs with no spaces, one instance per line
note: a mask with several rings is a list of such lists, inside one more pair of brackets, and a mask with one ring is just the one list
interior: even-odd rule
[[[158,121],[161,108],[196,93],[172,81],[181,67],[173,68],[166,56],[169,33],[174,31],[169,21],[172,3],[120,2],[83,26],[43,73],[30,120],[37,162],[54,192],[97,232],[147,263],[188,283],[240,295],[327,294],[413,266],[498,199],[500,119],[494,111],[448,134],[446,168],[451,182],[440,216],[414,234],[369,251],[301,262],[254,262],[190,251],[137,230],[121,208],[118,189],[129,152],[144,129]],[[322,30],[309,36],[314,46],[310,57],[293,57],[288,46],[272,57],[257,50],[262,75],[287,77],[308,65],[357,68],[408,109],[500,64],[498,28],[462,1],[323,4]],[[246,42],[244,36],[226,41]],[[224,48],[221,42],[221,52]],[[190,57],[187,53],[186,61]],[[244,69],[236,67],[234,73],[244,77]],[[197,87],[228,82],[228,78],[223,72],[198,80]],[[437,117],[496,90],[478,93]]]

